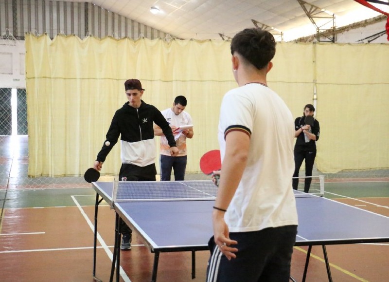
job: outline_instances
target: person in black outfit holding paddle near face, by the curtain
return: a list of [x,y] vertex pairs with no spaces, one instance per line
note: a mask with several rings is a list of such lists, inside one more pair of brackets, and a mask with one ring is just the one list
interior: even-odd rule
[[[295,119],[295,137],[297,137],[295,145],[295,173],[293,177],[299,176],[299,170],[302,161],[305,159],[305,176],[312,176],[313,164],[316,157],[316,141],[320,135],[320,125],[317,119],[314,120],[313,127],[305,124],[305,116],[315,113],[315,107],[307,104],[304,107],[303,116]],[[304,192],[308,193],[312,178],[305,178]],[[293,189],[297,190],[299,179],[293,179]]]

